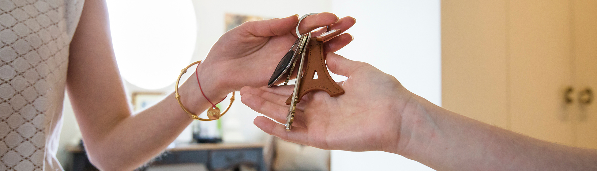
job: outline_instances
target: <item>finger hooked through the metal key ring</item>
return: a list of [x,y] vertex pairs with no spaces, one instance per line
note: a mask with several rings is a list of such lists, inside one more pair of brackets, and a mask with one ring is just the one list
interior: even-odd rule
[[[300,25],[298,26],[298,32],[301,34],[309,33],[319,27],[329,26],[338,21],[340,21],[340,18],[336,17],[336,14],[332,13],[309,15],[300,22]],[[296,23],[294,23],[293,26],[296,26]],[[292,33],[293,35],[296,35],[294,30]]]

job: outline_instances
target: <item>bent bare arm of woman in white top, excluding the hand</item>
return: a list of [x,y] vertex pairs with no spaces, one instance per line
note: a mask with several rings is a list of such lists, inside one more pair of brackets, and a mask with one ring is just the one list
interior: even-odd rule
[[[132,115],[113,54],[105,7],[103,1],[85,1],[70,44],[67,91],[94,165],[102,170],[133,170],[164,150],[192,119],[174,98]],[[185,104],[193,107],[192,111],[205,110],[207,101],[188,98],[194,89],[189,83],[182,86]]]

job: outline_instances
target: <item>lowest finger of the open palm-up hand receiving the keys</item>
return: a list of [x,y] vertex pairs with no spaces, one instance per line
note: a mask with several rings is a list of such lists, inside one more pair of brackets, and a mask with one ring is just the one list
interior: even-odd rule
[[303,145],[308,145],[309,143],[307,129],[293,126],[292,130],[289,132],[286,131],[284,125],[280,125],[263,116],[257,116],[255,120],[253,120],[253,123],[255,126],[257,126],[257,128],[263,130],[263,132],[269,135],[277,136],[284,141],[290,141]]

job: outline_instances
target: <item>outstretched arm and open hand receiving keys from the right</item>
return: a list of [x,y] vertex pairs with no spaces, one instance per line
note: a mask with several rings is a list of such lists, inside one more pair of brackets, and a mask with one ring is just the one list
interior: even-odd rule
[[[436,170],[597,170],[597,150],[530,138],[438,107],[367,63],[328,54],[330,71],[347,76],[344,95],[308,94],[291,132],[265,117],[264,132],[330,150],[386,151]],[[242,102],[284,123],[293,86],[241,89]]]

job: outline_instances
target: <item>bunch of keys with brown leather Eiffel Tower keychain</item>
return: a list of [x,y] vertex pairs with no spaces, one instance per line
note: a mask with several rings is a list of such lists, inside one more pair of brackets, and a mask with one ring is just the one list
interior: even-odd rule
[[[292,128],[296,105],[305,94],[312,91],[325,91],[330,97],[344,94],[344,90],[334,82],[328,73],[328,67],[325,65],[326,54],[324,53],[324,41],[340,35],[341,31],[339,29],[330,30],[330,26],[327,26],[327,32],[315,39],[311,38],[310,32],[304,35],[298,32],[300,21],[315,14],[318,13],[306,14],[298,19],[296,27],[298,39],[290,47],[290,51],[282,57],[267,83],[268,87],[272,87],[281,77],[287,76],[284,82],[284,85],[287,85],[296,63],[299,63],[293,94],[286,101],[286,104],[290,105],[284,125],[287,131]],[[297,58],[298,55],[300,55],[300,60]]]

